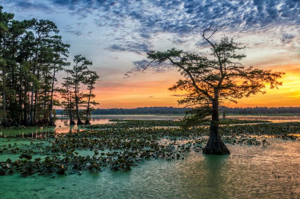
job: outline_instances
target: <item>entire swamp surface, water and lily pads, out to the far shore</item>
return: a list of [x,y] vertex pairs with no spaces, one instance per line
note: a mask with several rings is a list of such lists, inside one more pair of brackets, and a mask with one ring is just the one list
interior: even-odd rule
[[209,125],[182,128],[182,117],[94,116],[91,125],[78,127],[61,118],[55,128],[2,128],[0,193],[3,198],[20,193],[35,198],[300,197],[299,117],[220,119],[220,135],[232,152],[223,156],[202,153]]

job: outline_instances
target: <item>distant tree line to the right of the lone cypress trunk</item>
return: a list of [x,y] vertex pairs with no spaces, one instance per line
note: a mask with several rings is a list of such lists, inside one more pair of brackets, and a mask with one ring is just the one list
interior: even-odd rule
[[221,107],[226,114],[300,114],[300,107],[247,107],[247,108],[228,108]]

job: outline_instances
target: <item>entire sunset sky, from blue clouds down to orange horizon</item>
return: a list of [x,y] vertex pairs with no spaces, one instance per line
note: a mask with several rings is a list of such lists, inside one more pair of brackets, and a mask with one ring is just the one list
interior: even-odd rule
[[[226,35],[250,49],[244,66],[283,71],[279,89],[238,99],[229,107],[300,106],[299,0],[0,0],[17,20],[49,19],[56,23],[69,61],[81,54],[93,62],[97,108],[179,107],[184,94],[168,90],[180,74],[171,65],[142,72],[146,52],[177,49],[210,53],[203,29],[224,24],[214,41]],[[58,80],[63,77],[59,74]]]

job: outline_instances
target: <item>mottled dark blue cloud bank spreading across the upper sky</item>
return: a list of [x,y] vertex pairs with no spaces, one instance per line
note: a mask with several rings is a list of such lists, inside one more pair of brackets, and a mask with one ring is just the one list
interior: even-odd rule
[[[300,2],[297,0],[18,0],[4,1],[4,6],[26,12],[66,12],[76,17],[78,29],[68,33],[85,35],[81,20],[105,29],[111,44],[110,51],[126,51],[144,54],[149,51],[158,34],[172,34],[172,44],[184,44],[187,38],[200,36],[203,29],[225,24],[222,31],[255,34],[274,33],[280,26],[295,29],[299,33]],[[5,7],[4,7],[5,8]],[[289,43],[292,36],[284,29],[281,41]],[[293,33],[294,35],[297,33]],[[115,42],[114,42],[115,41]],[[118,42],[116,42],[118,41]],[[196,43],[196,41],[189,41]],[[197,47],[207,47],[199,42]]]

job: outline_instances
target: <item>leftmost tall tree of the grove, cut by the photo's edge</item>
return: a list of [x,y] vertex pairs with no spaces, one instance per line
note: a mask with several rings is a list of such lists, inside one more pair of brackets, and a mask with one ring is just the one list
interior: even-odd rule
[[[0,6],[0,69],[1,69],[1,96],[2,96],[2,121],[4,127],[18,125],[20,122],[16,109],[18,108],[16,96],[16,70],[20,66],[16,57],[19,43],[26,29],[32,27],[35,19],[18,21],[14,20],[13,13],[2,12]],[[7,104],[7,102],[9,104]],[[8,107],[8,109],[7,109]],[[13,110],[13,112],[8,112]],[[7,116],[10,116],[11,121]]]

